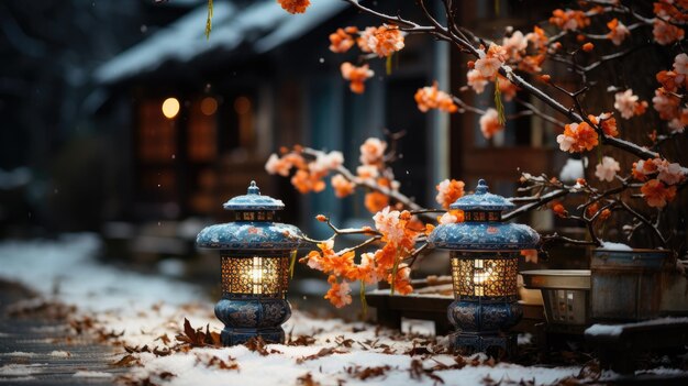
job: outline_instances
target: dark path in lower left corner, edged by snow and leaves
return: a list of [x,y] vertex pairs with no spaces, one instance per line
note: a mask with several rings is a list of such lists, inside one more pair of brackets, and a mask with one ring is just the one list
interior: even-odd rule
[[126,372],[112,366],[115,349],[76,333],[70,311],[0,280],[0,386],[112,385]]

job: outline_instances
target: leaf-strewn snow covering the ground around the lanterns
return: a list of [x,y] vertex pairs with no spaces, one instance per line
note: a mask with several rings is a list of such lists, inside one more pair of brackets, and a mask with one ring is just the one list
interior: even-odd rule
[[[93,258],[98,249],[97,236],[89,234],[58,241],[0,243],[0,277],[22,282],[45,299],[77,306],[77,320],[92,319],[95,328],[110,333],[113,343],[129,346],[133,353],[121,350],[120,357],[134,362],[127,375],[130,382],[149,378],[164,385],[262,386],[308,385],[313,381],[325,386],[343,381],[346,385],[406,386],[433,385],[433,376],[437,376],[445,385],[478,385],[486,377],[496,382],[534,379],[541,385],[576,376],[580,371],[495,364],[482,355],[412,356],[408,352],[413,348],[446,352],[446,339],[402,335],[373,324],[317,319],[297,310],[285,330],[293,340],[313,339],[304,345],[268,344],[255,351],[244,345],[180,350],[175,335],[182,331],[185,318],[195,328],[208,324],[214,332],[222,328],[213,316],[212,301],[195,286],[100,264]],[[147,349],[141,350],[144,345]],[[0,367],[0,374],[30,376],[42,366],[45,364],[12,364]],[[84,370],[75,376],[103,374]]]

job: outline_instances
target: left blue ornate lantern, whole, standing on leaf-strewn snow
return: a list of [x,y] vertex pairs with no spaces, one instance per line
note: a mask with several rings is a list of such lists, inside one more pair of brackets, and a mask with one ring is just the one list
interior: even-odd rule
[[224,203],[233,222],[203,229],[199,247],[220,250],[222,299],[215,316],[224,323],[222,344],[235,345],[253,337],[282,343],[281,324],[291,316],[285,298],[289,285],[289,260],[299,246],[301,231],[275,222],[281,200],[262,196],[255,181],[248,192]]

